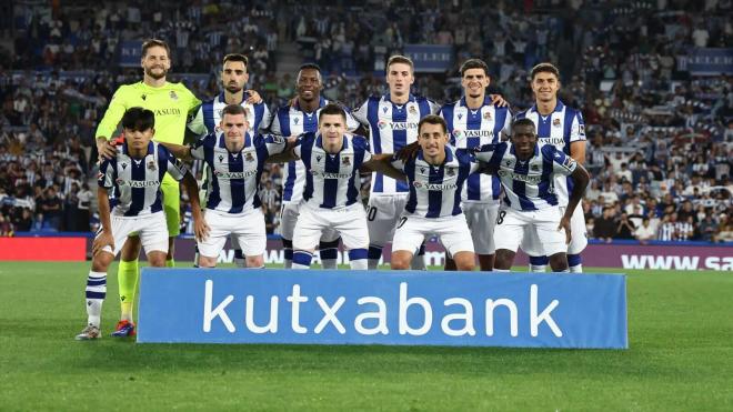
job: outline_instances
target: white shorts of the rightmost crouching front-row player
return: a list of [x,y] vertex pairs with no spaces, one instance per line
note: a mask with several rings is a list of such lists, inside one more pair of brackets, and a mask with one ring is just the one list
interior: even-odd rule
[[551,207],[533,211],[518,211],[505,205],[499,209],[496,227],[494,228],[494,243],[496,249],[506,249],[516,252],[523,239],[536,238],[538,254],[522,248],[531,257],[551,257],[555,253],[565,253],[565,231],[559,231],[560,207]]

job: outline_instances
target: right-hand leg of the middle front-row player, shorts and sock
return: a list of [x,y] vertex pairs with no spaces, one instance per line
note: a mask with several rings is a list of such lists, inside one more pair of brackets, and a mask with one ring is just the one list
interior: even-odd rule
[[333,229],[343,240],[349,251],[349,264],[352,270],[368,269],[369,229],[366,213],[361,204],[352,204],[348,210],[333,213]]

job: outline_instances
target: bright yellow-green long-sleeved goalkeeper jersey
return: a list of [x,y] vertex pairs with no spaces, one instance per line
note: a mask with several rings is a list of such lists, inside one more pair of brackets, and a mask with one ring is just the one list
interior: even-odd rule
[[195,114],[200,104],[201,100],[183,83],[165,82],[160,88],[143,82],[124,84],[114,92],[94,137],[110,139],[124,111],[141,107],[155,113],[155,141],[182,144],[189,115]]

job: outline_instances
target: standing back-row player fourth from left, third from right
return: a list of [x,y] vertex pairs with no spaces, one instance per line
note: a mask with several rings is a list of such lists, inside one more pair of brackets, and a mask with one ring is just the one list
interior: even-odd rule
[[[438,112],[432,101],[410,92],[414,83],[414,64],[404,56],[392,56],[386,62],[386,96],[370,97],[354,117],[369,129],[373,153],[394,153],[418,140],[418,122]],[[374,270],[382,258],[382,248],[389,242],[400,213],[408,201],[408,183],[382,173],[372,173],[366,220],[369,224],[369,269]],[[424,253],[424,247],[421,248]],[[415,259],[413,269],[425,269],[424,259]]]

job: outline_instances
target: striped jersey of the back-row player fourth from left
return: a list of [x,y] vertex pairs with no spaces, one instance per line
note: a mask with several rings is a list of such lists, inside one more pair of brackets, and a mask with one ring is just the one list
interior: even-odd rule
[[[405,104],[394,104],[390,96],[372,96],[353,114],[369,128],[369,142],[372,152],[396,153],[418,140],[418,122],[428,114],[438,112],[438,104],[410,94]],[[406,193],[406,182],[394,180],[382,173],[372,173],[372,194]]]

